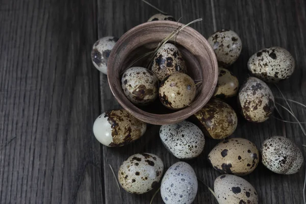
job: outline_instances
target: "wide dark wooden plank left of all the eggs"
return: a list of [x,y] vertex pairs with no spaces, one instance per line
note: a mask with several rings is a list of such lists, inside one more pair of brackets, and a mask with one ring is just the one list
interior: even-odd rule
[[0,4],[0,203],[102,203],[95,1]]

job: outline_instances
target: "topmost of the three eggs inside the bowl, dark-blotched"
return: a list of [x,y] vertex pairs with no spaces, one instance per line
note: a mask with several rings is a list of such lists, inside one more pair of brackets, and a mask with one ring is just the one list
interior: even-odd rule
[[174,72],[187,72],[180,50],[171,43],[161,46],[154,57],[151,70],[161,81]]

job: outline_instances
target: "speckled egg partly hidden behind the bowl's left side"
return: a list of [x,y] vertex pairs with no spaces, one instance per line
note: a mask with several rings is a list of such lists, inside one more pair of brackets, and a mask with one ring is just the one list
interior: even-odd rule
[[100,38],[92,47],[92,63],[100,72],[104,74],[107,74],[107,62],[117,41],[117,37],[107,36]]

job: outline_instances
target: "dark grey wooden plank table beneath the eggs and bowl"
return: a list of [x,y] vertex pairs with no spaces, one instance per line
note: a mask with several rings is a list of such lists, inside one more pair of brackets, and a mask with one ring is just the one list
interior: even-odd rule
[[[306,101],[304,0],[150,2],[183,23],[202,17],[191,27],[205,37],[219,29],[237,32],[243,50],[230,69],[240,82],[253,53],[272,45],[288,49],[296,70],[279,87],[286,97]],[[163,147],[156,125],[121,148],[100,145],[92,134],[99,113],[119,107],[107,76],[91,63],[92,44],[99,37],[120,37],[155,13],[140,0],[0,0],[0,203],[117,204],[119,190],[109,164],[117,172],[123,160],[139,152],[160,156],[165,169],[179,161]],[[292,107],[305,121],[306,110]],[[294,120],[285,112],[284,117]],[[274,118],[260,124],[239,118],[232,137],[260,148],[273,135],[286,136],[301,149],[306,144],[297,124]],[[210,187],[219,173],[206,157],[217,143],[207,139],[202,155],[188,161]],[[304,170],[278,175],[260,164],[245,179],[257,189],[259,203],[302,203]],[[122,203],[149,203],[154,191],[132,195],[121,189]],[[162,203],[160,194],[154,203]],[[199,184],[194,203],[217,202]]]

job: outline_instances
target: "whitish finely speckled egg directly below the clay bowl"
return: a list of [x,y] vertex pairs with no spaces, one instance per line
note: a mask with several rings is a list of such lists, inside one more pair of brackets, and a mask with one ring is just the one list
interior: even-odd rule
[[179,159],[192,159],[199,156],[205,145],[201,130],[186,120],[162,125],[160,137],[165,147]]

